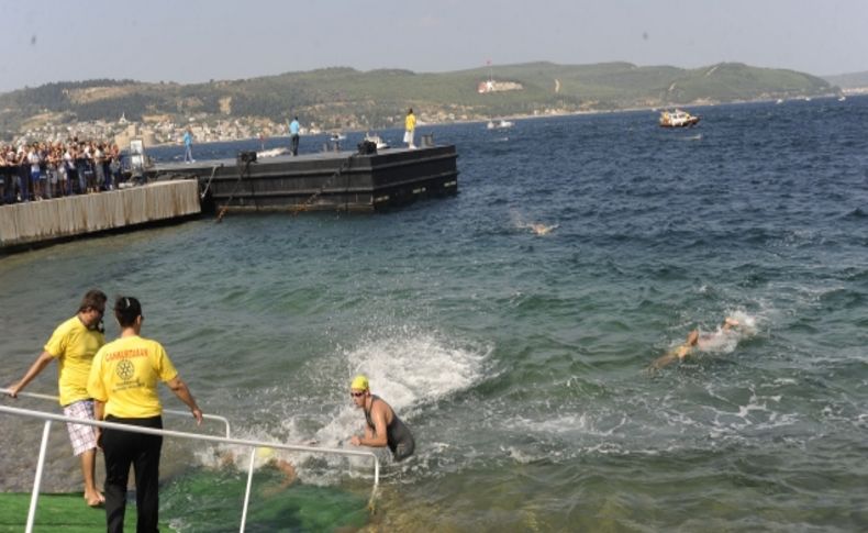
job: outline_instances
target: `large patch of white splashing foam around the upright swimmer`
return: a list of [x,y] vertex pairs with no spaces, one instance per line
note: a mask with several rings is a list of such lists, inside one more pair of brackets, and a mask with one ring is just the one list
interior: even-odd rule
[[[337,348],[336,356],[344,359],[332,380],[325,386],[327,398],[309,398],[308,402],[319,401],[320,408],[313,411],[298,411],[298,398],[270,408],[277,409],[280,421],[277,426],[242,426],[234,424],[233,437],[270,443],[305,444],[353,451],[371,451],[381,463],[391,462],[388,448],[356,447],[349,437],[361,434],[365,418],[349,396],[349,381],[356,374],[365,374],[371,391],[386,400],[396,413],[412,430],[412,420],[427,406],[457,391],[471,387],[485,377],[485,362],[491,353],[490,346],[465,345],[445,340],[436,332],[421,332],[412,327],[399,327],[387,335],[367,340],[353,348]],[[341,375],[341,373],[345,373]],[[286,391],[275,389],[265,392],[274,399]],[[292,406],[289,409],[289,406]],[[323,409],[330,412],[323,412]],[[316,422],[319,420],[319,423]],[[319,427],[318,427],[319,426]],[[431,446],[416,444],[416,455],[426,453]],[[429,453],[437,453],[442,446],[433,446]],[[251,448],[240,445],[208,445],[198,448],[194,457],[207,468],[232,466],[246,471],[249,465]],[[269,454],[256,454],[255,468],[261,468],[272,458],[287,460],[296,466],[299,479],[309,485],[333,485],[342,476],[369,478],[372,463],[366,457],[345,457],[334,454],[316,454],[274,449]],[[409,463],[409,462],[405,462]],[[401,464],[403,468],[404,464]],[[393,468],[394,469],[394,468]],[[385,475],[385,474],[383,474]]]

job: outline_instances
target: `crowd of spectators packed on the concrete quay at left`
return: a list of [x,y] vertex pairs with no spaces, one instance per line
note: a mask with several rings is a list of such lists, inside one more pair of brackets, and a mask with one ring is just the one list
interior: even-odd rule
[[105,141],[34,142],[0,146],[0,204],[115,189],[122,156]]

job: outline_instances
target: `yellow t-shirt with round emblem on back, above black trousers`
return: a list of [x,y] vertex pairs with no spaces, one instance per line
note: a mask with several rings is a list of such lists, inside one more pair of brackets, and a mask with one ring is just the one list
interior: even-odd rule
[[156,341],[133,335],[112,341],[97,352],[88,392],[105,402],[104,415],[145,419],[163,412],[157,381],[169,381],[178,370]]

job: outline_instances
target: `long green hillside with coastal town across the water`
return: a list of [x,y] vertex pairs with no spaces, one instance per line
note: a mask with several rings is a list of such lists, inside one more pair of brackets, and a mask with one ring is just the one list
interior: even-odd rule
[[[478,91],[480,82],[489,92]],[[834,93],[823,79],[719,64],[697,69],[628,63],[531,63],[439,74],[325,68],[208,84],[56,82],[0,95],[0,134],[23,126],[160,116],[186,122],[303,116],[322,127],[383,127],[412,106],[436,121],[734,102]]]

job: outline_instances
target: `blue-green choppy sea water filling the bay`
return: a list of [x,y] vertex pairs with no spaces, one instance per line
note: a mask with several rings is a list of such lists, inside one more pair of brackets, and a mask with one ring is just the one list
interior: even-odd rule
[[[97,286],[142,299],[144,334],[242,436],[348,445],[363,418],[346,387],[366,373],[418,443],[383,456],[370,521],[389,531],[865,530],[868,98],[695,111],[686,131],[647,111],[432,127],[458,148],[453,199],[5,257],[3,380]],[[704,349],[647,371],[693,327]],[[2,488],[26,489],[38,425],[0,423]],[[56,433],[49,484],[75,488]],[[167,520],[185,509],[173,487],[244,476],[216,452],[166,445]],[[288,506],[330,501],[293,500],[310,487],[336,501],[291,528],[364,511],[369,463],[287,458]]]

